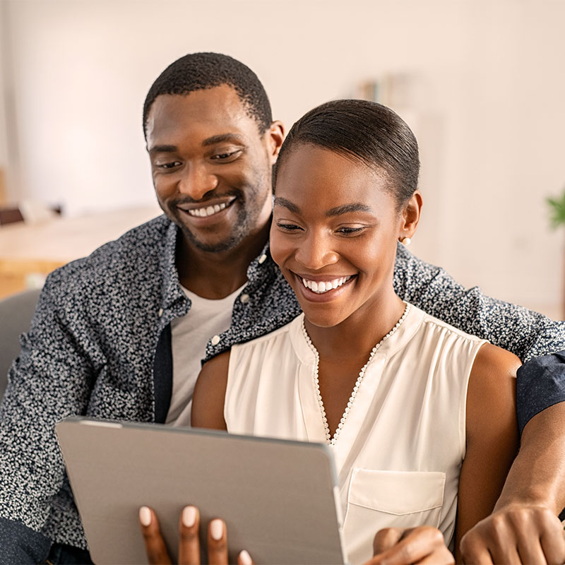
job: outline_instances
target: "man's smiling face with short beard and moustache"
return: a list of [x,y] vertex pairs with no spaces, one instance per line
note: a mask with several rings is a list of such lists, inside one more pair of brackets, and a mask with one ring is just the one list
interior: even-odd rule
[[233,88],[158,96],[146,131],[157,200],[189,246],[234,249],[266,225],[282,135],[260,133]]

